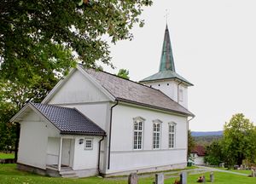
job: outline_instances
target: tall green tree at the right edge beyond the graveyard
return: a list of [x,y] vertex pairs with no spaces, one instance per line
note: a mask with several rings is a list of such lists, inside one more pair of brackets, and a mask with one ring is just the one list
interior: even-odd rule
[[229,123],[224,124],[223,151],[225,162],[231,166],[242,164],[247,158],[253,161],[256,156],[255,127],[242,113],[232,116]]

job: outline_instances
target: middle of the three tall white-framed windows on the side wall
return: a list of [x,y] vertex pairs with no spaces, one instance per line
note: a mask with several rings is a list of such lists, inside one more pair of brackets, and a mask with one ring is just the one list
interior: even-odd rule
[[[157,150],[157,149],[160,149],[161,147],[161,124],[162,124],[162,121],[160,121],[159,119],[155,119],[153,121],[153,139],[152,139],[152,147],[153,149]],[[156,126],[159,126],[159,129],[154,129],[154,125]],[[158,137],[158,140],[157,140],[157,137]],[[158,141],[158,144],[157,144],[157,141]]]

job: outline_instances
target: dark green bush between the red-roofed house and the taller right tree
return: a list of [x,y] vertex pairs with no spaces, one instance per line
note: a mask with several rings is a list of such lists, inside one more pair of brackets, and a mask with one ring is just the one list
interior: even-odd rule
[[206,147],[205,163],[218,165],[224,162],[221,141],[213,141]]

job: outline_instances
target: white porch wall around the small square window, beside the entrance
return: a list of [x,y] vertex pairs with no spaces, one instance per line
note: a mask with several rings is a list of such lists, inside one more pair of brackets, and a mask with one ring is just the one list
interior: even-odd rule
[[[79,139],[93,139],[93,149],[84,149],[84,143],[79,144]],[[73,170],[97,169],[98,165],[98,142],[102,137],[76,136],[74,144]]]

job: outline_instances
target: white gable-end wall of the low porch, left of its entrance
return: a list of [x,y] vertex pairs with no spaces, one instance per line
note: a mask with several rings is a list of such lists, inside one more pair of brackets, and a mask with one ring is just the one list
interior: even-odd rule
[[48,136],[59,135],[58,129],[29,112],[20,122],[18,163],[45,169]]

